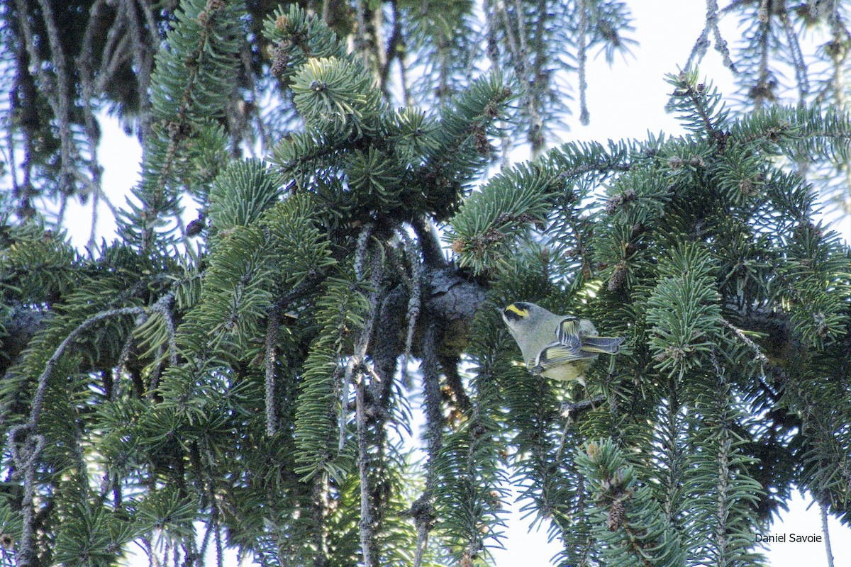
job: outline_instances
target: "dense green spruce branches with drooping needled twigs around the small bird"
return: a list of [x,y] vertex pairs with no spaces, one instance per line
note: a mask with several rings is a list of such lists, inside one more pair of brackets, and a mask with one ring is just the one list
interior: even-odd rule
[[[52,37],[40,6],[3,15]],[[147,76],[139,55],[145,156],[117,241],[75,251],[27,213],[35,181],[3,208],[3,561],[111,565],[139,544],[157,564],[237,547],[262,565],[472,567],[511,545],[511,485],[564,565],[759,564],[754,534],[795,487],[851,521],[851,252],[801,165],[841,174],[851,119],[763,95],[736,113],[689,66],[669,77],[686,135],[545,151],[564,110],[541,75],[565,65],[553,46],[579,46],[583,96],[585,50],[626,43],[625,3],[484,3],[485,56],[508,71],[471,82],[482,56],[453,31],[472,4],[382,8],[260,24],[255,6],[182,0]],[[269,134],[268,162],[242,159],[232,113],[260,30],[300,121]],[[31,30],[3,33],[37,60]],[[435,55],[434,111],[391,105],[408,48]],[[65,84],[66,51],[50,54]],[[63,95],[41,96],[54,158],[83,167]],[[514,124],[536,158],[479,184]],[[625,343],[587,388],[532,376],[497,313],[521,299]]]

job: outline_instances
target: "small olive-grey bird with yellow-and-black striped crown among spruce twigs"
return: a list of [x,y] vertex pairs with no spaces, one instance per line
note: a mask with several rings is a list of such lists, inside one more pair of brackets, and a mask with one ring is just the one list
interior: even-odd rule
[[624,337],[600,337],[590,320],[556,315],[534,303],[518,301],[500,312],[533,374],[578,380],[600,353],[618,352]]

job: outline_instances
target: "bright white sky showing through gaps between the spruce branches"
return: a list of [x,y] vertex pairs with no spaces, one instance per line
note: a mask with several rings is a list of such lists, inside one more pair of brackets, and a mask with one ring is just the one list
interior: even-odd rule
[[[639,45],[631,48],[632,56],[616,57],[612,68],[605,65],[602,55],[594,58],[592,52],[588,67],[588,106],[591,125],[580,126],[578,118],[568,120],[570,131],[563,141],[571,139],[598,140],[636,138],[646,139],[648,131],[677,135],[683,128],[674,116],[665,113],[665,103],[671,91],[665,83],[665,73],[677,72],[688,59],[694,40],[703,27],[705,2],[700,0],[629,0],[634,16],[635,31],[629,37]],[[722,3],[722,7],[726,3]],[[734,21],[724,22],[722,31],[728,41],[737,36]],[[730,98],[735,89],[732,77],[713,48],[700,65],[702,75],[709,77],[722,94]],[[574,105],[574,107],[578,107]],[[578,116],[578,108],[575,114]],[[139,179],[140,148],[114,122],[103,122],[104,142],[100,146],[101,162],[105,166],[104,187],[110,191],[111,200],[121,207],[123,195]],[[188,203],[187,203],[188,204]],[[115,230],[114,219],[105,206],[100,210],[100,234],[111,240]],[[77,226],[69,226],[74,242],[83,246],[89,237],[91,212],[88,207],[69,205],[66,219],[77,218]],[[70,220],[69,220],[70,224]],[[851,240],[851,220],[842,219],[833,227],[840,230],[846,241]],[[798,496],[790,503],[790,511],[780,516],[771,533],[821,534],[818,507],[808,508],[810,499]],[[494,550],[498,567],[545,567],[561,549],[557,541],[547,542],[546,528],[528,531],[533,518],[521,520],[512,507],[504,550]],[[836,565],[851,564],[851,529],[830,519],[830,535]],[[775,543],[767,547],[767,556],[774,567],[827,565],[825,547],[821,543]],[[234,555],[231,553],[231,561]],[[212,558],[211,558],[212,559]],[[146,565],[136,559],[133,564]],[[214,561],[208,563],[214,564]]]

